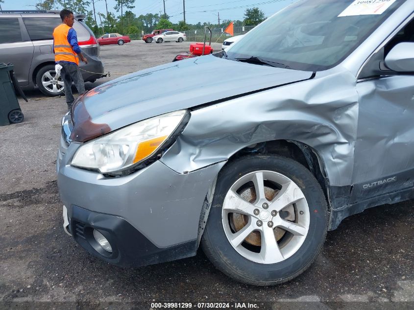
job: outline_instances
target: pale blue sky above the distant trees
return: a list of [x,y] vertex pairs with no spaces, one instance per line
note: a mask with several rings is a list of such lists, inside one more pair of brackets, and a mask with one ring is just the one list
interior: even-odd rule
[[[1,7],[3,10],[34,10],[37,2],[38,0],[4,0]],[[259,7],[269,17],[293,2],[294,0],[185,0],[186,22],[187,24],[217,23],[218,13],[220,20],[243,20],[246,8],[254,6]],[[121,12],[116,13],[114,10],[115,0],[107,0],[107,3],[108,11],[114,12],[116,16],[121,15]],[[172,23],[183,20],[183,0],[165,0],[165,8]],[[104,0],[98,0],[95,9],[105,14]],[[136,0],[132,12],[137,16],[146,13],[164,14],[163,0]]]

